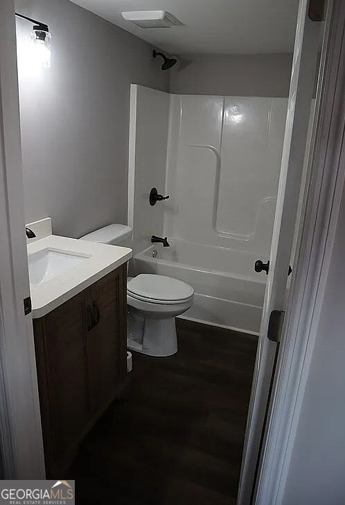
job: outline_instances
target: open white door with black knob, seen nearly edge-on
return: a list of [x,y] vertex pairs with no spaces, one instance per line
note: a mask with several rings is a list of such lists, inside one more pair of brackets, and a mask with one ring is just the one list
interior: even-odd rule
[[[269,328],[274,330],[269,320],[272,312],[279,311],[272,315],[271,322],[274,323],[274,315],[280,316],[282,315],[280,311],[285,310],[288,270],[297,219],[310,108],[315,90],[317,52],[321,42],[322,24],[309,19],[308,3],[308,0],[300,0],[297,18],[276,216],[242,457],[238,505],[249,505],[252,500],[270,391],[274,380],[279,344],[269,339]],[[267,258],[258,259],[263,260],[264,263],[267,261]],[[265,272],[262,272],[262,275],[265,275]],[[281,320],[278,319],[277,322]],[[270,336],[276,336],[276,333],[273,331]]]

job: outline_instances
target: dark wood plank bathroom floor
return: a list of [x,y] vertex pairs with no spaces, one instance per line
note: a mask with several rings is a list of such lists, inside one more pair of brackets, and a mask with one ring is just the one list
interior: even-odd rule
[[178,320],[179,352],[134,353],[129,397],[80,447],[77,503],[236,503],[256,337]]

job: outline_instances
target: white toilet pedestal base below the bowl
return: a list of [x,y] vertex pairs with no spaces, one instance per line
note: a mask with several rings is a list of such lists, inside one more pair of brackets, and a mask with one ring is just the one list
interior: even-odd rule
[[127,347],[148,356],[164,357],[177,353],[175,317],[151,319],[129,311]]

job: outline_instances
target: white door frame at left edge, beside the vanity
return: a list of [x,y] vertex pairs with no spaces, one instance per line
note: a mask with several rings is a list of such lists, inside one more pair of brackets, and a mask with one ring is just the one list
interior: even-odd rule
[[13,0],[0,2],[0,453],[1,479],[45,479],[21,167]]

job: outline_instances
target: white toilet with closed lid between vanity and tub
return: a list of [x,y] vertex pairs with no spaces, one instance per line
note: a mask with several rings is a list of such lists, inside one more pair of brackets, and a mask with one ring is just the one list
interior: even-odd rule
[[[128,247],[130,226],[109,224],[80,240]],[[139,274],[127,280],[129,349],[149,356],[172,356],[178,350],[175,317],[193,305],[194,290],[172,277]]]

